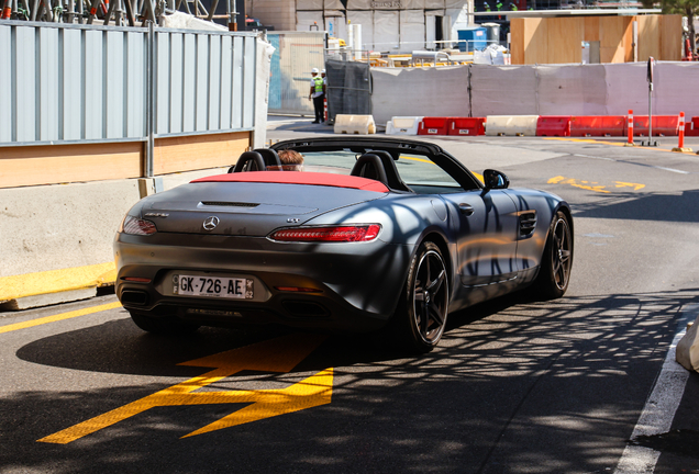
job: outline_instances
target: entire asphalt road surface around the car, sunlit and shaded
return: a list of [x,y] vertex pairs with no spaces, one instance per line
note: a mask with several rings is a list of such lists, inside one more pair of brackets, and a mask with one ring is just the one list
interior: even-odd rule
[[[331,129],[309,123],[268,137]],[[669,138],[435,142],[572,204],[564,298],[453,314],[419,358],[280,329],[146,335],[113,295],[0,313],[0,472],[699,473],[699,374],[663,370],[699,314],[699,157]],[[654,431],[663,388],[679,405]]]

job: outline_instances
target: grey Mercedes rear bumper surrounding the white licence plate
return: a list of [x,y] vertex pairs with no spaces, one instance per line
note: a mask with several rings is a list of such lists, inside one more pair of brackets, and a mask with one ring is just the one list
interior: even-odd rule
[[[412,249],[380,240],[289,244],[163,233],[116,234],[114,251],[116,296],[129,311],[212,326],[281,324],[360,332],[380,328],[393,314]],[[177,295],[176,274],[251,279],[254,297]],[[317,291],[279,290],[285,287]]]

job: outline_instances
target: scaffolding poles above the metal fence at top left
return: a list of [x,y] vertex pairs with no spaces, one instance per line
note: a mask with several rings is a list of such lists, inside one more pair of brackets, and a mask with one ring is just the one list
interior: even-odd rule
[[2,0],[1,20],[24,20],[52,23],[145,26],[151,21],[160,24],[165,15],[175,12],[200,20],[226,19],[236,23],[235,0],[223,0],[225,14],[215,14],[221,0],[211,0],[207,9],[201,0]]

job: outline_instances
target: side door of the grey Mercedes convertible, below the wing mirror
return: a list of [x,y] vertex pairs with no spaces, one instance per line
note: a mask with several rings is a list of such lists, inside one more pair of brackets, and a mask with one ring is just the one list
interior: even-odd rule
[[512,199],[503,190],[474,190],[442,198],[455,215],[462,285],[511,284],[518,271],[519,222]]

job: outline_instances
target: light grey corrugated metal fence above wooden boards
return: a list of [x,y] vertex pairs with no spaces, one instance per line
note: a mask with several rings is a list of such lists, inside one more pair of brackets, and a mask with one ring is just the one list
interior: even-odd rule
[[254,126],[255,33],[4,21],[0,46],[0,147]]

